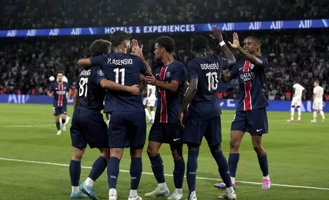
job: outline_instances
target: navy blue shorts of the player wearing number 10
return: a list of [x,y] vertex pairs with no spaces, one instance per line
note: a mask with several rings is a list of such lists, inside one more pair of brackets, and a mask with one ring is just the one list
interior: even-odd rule
[[220,115],[206,120],[195,119],[193,117],[188,119],[185,124],[183,142],[201,145],[203,136],[207,140],[209,147],[222,143]]

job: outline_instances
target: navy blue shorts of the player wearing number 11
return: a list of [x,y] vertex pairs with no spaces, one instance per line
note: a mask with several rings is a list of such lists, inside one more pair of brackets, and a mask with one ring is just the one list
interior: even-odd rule
[[108,141],[110,148],[141,147],[146,140],[144,112],[111,112]]

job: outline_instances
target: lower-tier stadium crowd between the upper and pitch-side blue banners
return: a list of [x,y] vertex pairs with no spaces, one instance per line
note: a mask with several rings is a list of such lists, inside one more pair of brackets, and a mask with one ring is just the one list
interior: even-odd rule
[[[230,34],[227,40],[231,40]],[[257,34],[259,36],[257,36]],[[291,35],[291,32],[266,34],[256,32],[260,38],[263,55],[269,58],[264,92],[268,99],[285,99],[286,93],[292,92],[292,85],[297,81],[307,89],[304,99],[312,98],[313,81],[319,80],[329,94],[329,36]],[[249,32],[242,32],[242,42]],[[186,37],[188,36],[188,37]],[[192,58],[190,43],[194,35],[178,34],[172,36],[176,41],[174,57],[184,63]],[[154,39],[140,37],[144,44],[145,57],[149,64],[156,59],[153,54]],[[88,57],[88,47],[94,38],[28,38],[10,41],[0,47],[0,93],[45,94],[50,86],[48,78],[56,70],[63,69],[72,87],[79,72],[76,61]],[[217,54],[218,46],[210,45],[209,54]],[[216,50],[213,50],[216,49]],[[239,59],[237,52],[233,52]],[[220,86],[226,86],[220,83]],[[142,88],[145,92],[145,90]],[[237,98],[237,89],[228,89],[226,98]]]

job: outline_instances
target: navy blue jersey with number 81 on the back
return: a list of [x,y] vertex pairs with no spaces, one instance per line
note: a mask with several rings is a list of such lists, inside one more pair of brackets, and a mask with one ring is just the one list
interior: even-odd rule
[[78,106],[97,111],[104,109],[103,101],[106,92],[105,89],[99,86],[97,80],[97,73],[100,70],[100,66],[85,67],[80,72],[77,77]]

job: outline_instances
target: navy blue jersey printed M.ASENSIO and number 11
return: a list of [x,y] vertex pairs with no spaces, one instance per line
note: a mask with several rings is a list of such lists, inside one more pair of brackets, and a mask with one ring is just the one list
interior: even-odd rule
[[[93,66],[100,65],[103,73],[98,73],[98,81],[108,79],[116,83],[132,86],[140,84],[140,73],[145,73],[146,65],[138,56],[125,53],[109,53],[90,58]],[[145,112],[142,97],[129,92],[108,90],[104,112],[128,111]]]

